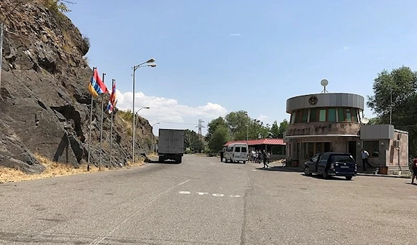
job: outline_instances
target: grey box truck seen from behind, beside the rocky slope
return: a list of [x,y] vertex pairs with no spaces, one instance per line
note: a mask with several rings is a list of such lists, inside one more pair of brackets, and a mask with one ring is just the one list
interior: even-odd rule
[[174,160],[181,163],[184,151],[184,130],[159,128],[159,162]]

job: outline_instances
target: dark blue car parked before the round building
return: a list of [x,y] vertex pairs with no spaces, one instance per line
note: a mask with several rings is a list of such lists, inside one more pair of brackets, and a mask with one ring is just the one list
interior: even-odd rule
[[323,178],[329,176],[345,176],[351,180],[357,175],[358,165],[350,153],[326,152],[318,153],[304,162],[304,174],[321,174]]

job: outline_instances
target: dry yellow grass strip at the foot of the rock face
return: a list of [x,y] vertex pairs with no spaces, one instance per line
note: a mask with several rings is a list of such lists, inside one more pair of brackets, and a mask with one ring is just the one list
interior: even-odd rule
[[[19,169],[0,167],[0,183],[36,180],[40,178],[52,178],[73,174],[88,174],[97,171],[118,169],[118,167],[113,167],[112,169],[101,167],[101,170],[99,170],[98,167],[95,167],[91,164],[90,171],[87,171],[87,164],[82,164],[78,168],[74,168],[72,165],[53,162],[47,158],[44,158],[42,155],[35,154],[35,158],[38,159],[38,161],[42,163],[44,167],[46,167],[45,171],[43,171],[41,174],[25,174]],[[131,162],[129,162],[128,167],[137,167],[142,166],[143,164],[143,159],[137,159],[135,160],[135,164],[131,164]]]

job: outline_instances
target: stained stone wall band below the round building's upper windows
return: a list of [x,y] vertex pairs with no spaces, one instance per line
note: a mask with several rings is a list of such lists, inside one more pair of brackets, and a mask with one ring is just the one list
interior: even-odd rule
[[318,121],[289,124],[286,137],[291,135],[359,135],[361,124],[349,122]]

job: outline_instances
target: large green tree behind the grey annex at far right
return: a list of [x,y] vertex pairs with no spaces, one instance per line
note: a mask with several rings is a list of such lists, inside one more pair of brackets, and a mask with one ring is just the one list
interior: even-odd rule
[[409,154],[417,155],[417,73],[409,67],[383,70],[373,83],[373,96],[366,103],[377,118],[375,124],[389,124],[392,96],[392,124],[409,132]]

